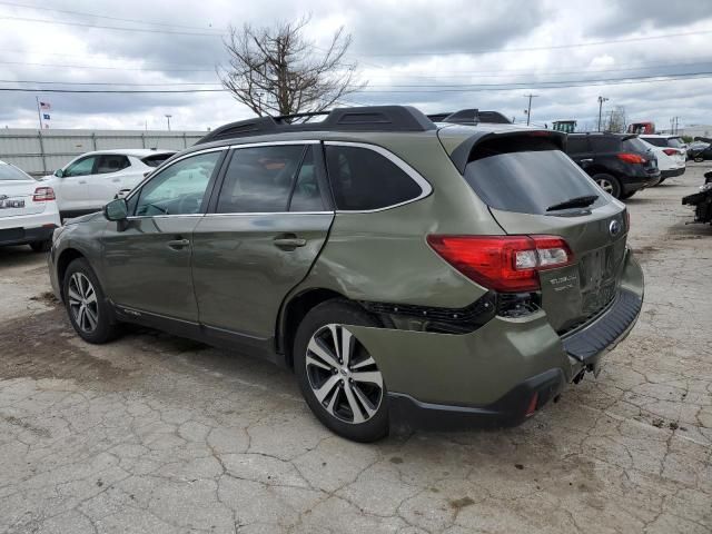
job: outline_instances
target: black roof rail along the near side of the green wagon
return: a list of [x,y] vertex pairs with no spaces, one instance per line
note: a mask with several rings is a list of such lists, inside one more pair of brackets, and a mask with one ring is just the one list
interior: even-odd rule
[[[308,122],[315,116],[326,118]],[[294,122],[294,119],[306,121]],[[293,131],[427,131],[436,129],[422,111],[411,106],[364,106],[332,111],[295,113],[279,117],[255,117],[216,128],[196,145],[238,137],[286,134]]]

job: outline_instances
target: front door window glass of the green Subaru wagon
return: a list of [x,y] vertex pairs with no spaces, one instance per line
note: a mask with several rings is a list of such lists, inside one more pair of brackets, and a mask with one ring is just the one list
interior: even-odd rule
[[200,212],[208,182],[221,156],[222,151],[200,154],[158,172],[138,194],[136,215]]

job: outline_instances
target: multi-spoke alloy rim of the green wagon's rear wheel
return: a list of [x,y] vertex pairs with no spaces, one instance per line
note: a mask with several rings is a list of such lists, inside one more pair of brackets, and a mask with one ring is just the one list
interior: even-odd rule
[[366,348],[342,325],[326,325],[309,339],[309,386],[324,409],[350,424],[370,419],[383,402],[383,376]]

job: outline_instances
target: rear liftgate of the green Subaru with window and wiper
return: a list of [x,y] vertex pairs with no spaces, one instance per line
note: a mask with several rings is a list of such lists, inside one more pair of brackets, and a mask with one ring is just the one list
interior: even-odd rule
[[[571,247],[573,265],[540,274],[542,306],[564,332],[612,301],[627,231],[624,206],[554,148],[516,136],[476,147],[465,179],[507,234],[560,236]],[[590,205],[556,208],[582,197]]]

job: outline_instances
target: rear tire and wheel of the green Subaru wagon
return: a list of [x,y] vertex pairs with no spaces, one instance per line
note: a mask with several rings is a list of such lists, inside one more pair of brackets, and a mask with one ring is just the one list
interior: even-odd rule
[[386,386],[374,358],[345,325],[380,326],[346,300],[328,300],[305,316],[294,344],[297,380],[326,427],[355,442],[375,442],[388,434]]

